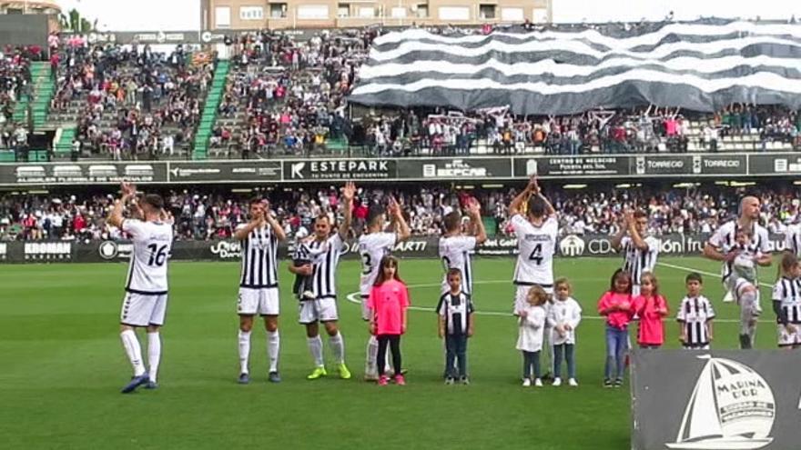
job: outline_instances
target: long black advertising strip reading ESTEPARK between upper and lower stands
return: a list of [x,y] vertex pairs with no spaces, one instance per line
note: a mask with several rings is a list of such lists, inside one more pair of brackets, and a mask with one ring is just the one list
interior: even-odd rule
[[532,155],[0,164],[0,185],[342,183],[801,175],[801,155]]

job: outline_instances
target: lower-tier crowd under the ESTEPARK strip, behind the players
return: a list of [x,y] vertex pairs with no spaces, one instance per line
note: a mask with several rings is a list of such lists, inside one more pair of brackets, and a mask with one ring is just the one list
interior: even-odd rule
[[[754,191],[749,191],[754,192]],[[165,202],[176,221],[177,239],[212,240],[231,237],[237,225],[247,220],[251,195],[223,191],[165,191]],[[358,234],[367,217],[368,206],[383,203],[394,195],[409,215],[414,235],[439,235],[441,220],[475,196],[482,203],[482,215],[494,226],[488,232],[509,233],[508,205],[514,189],[454,192],[431,187],[413,190],[360,189],[355,202],[353,233]],[[710,233],[735,215],[742,191],[734,188],[660,189],[656,186],[637,189],[596,189],[546,191],[560,211],[563,235],[614,234],[626,208],[647,209],[654,234]],[[799,216],[796,189],[765,188],[755,192],[762,200],[762,221],[774,233],[783,233],[787,224]],[[338,211],[337,189],[317,191],[275,191],[263,195],[271,200],[271,209],[279,217],[288,235],[300,227],[308,230],[313,218],[321,213]],[[106,226],[113,195],[3,195],[0,196],[0,240],[96,240],[120,237],[119,230]],[[492,218],[492,219],[491,219]]]

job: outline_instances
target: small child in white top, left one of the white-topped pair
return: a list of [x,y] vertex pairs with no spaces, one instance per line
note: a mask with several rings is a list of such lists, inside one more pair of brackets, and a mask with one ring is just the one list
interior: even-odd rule
[[540,352],[545,331],[546,312],[544,305],[548,302],[548,294],[539,285],[533,285],[526,295],[526,305],[518,312],[519,332],[517,349],[522,351],[522,385],[532,385],[532,368],[534,385],[542,387],[542,369]]

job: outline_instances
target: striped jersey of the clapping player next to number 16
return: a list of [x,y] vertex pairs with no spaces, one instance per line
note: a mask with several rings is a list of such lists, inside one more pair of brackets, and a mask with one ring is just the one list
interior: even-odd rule
[[242,240],[242,271],[239,287],[278,287],[279,240],[270,225],[255,228]]

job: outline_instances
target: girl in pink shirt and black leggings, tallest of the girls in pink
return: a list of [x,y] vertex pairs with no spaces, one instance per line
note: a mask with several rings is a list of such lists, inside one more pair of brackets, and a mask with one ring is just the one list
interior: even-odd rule
[[[409,290],[398,274],[398,260],[392,256],[381,258],[380,272],[370,291],[367,305],[370,315],[370,333],[379,341],[378,361],[385,361],[387,345],[392,350],[395,383],[405,385],[400,369],[400,335],[406,333],[406,309],[409,307]],[[379,364],[379,385],[387,385],[384,365]]]

